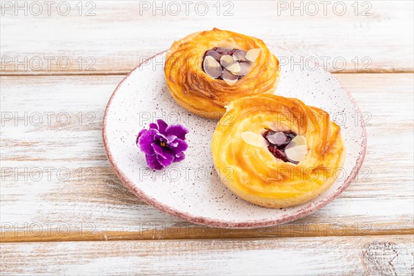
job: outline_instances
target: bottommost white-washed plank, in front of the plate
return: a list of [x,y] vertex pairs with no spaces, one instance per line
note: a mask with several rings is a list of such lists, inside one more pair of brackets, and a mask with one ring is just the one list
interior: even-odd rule
[[1,245],[5,275],[413,275],[413,236]]

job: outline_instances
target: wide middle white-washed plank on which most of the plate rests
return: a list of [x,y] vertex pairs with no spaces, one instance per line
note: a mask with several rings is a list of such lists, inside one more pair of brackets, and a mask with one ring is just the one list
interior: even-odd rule
[[337,77],[369,112],[362,172],[312,215],[255,230],[188,224],[121,185],[101,119],[122,76],[0,77],[1,242],[413,234],[413,75]]

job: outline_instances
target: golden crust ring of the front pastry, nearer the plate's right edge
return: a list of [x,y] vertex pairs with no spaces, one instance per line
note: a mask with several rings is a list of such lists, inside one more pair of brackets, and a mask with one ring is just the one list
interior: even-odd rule
[[[247,144],[242,132],[293,131],[308,145],[298,164]],[[341,130],[319,108],[276,95],[245,97],[229,104],[211,144],[221,181],[236,195],[270,208],[303,204],[329,188],[342,172],[346,149]]]

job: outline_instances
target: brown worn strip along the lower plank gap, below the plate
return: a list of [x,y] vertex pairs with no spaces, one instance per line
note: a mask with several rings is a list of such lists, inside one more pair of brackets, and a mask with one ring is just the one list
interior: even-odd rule
[[[317,226],[317,225],[315,225]],[[226,228],[152,228],[141,232],[99,231],[93,233],[70,232],[68,235],[59,235],[52,232],[50,235],[19,236],[12,232],[2,232],[0,243],[12,242],[93,242],[93,241],[122,241],[122,240],[177,240],[177,239],[246,239],[246,238],[278,238],[278,237],[362,237],[386,235],[414,235],[412,229],[393,230],[360,230],[355,228],[328,228],[319,225],[313,229],[306,229],[300,225],[273,226],[268,230],[256,229],[226,229]],[[321,230],[319,230],[319,228]]]

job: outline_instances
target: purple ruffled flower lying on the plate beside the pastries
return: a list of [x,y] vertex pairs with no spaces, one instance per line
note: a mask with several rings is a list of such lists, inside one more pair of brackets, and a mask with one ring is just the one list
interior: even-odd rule
[[181,125],[171,125],[159,119],[151,123],[150,129],[142,129],[137,137],[137,146],[145,153],[148,167],[161,170],[172,162],[183,160],[184,150],[188,148],[188,130]]

